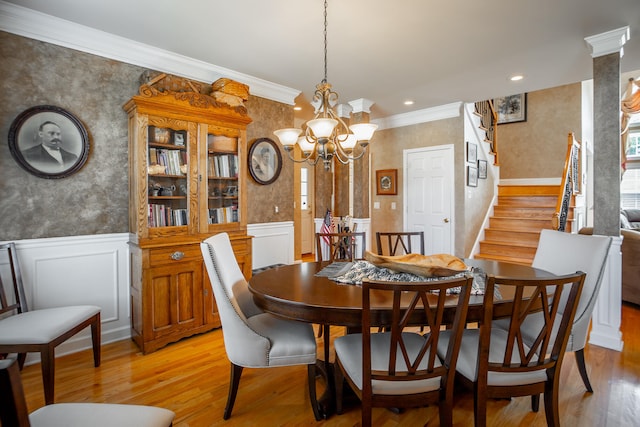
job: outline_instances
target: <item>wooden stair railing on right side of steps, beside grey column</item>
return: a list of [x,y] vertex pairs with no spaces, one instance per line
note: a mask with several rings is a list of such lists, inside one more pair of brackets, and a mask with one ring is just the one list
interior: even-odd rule
[[567,154],[564,160],[560,192],[558,194],[558,201],[556,202],[555,213],[551,219],[551,224],[554,230],[565,231],[571,196],[578,194],[581,191],[581,152],[580,141],[575,138],[573,132],[570,132],[567,144]]

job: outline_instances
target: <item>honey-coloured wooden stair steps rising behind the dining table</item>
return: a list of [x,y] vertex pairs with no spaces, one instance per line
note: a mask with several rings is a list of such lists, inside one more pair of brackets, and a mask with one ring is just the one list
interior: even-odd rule
[[[531,265],[540,231],[553,228],[559,185],[500,185],[489,227],[474,258]],[[571,230],[572,210],[567,231]]]

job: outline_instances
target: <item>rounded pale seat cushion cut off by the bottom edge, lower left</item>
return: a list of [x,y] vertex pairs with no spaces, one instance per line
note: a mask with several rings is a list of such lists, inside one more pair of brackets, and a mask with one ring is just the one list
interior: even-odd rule
[[56,403],[29,415],[32,427],[168,427],[173,411],[153,406]]

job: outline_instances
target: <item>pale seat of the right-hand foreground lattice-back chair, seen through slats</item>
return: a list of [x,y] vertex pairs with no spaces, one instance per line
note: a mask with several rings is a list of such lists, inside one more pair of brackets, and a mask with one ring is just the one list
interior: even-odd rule
[[[507,342],[507,331],[498,328],[491,329],[491,346],[489,350],[490,363],[502,363],[505,355],[505,346]],[[462,343],[458,353],[458,364],[456,371],[470,381],[476,381],[478,377],[478,340],[480,338],[479,329],[466,329],[462,333]],[[442,331],[438,340],[438,354],[446,354],[449,345],[449,331]],[[524,346],[525,351],[529,348]],[[534,356],[533,361],[537,360]],[[519,363],[520,357],[517,350],[514,349],[512,363]],[[544,369],[533,372],[512,373],[512,372],[489,372],[487,376],[487,384],[490,386],[500,385],[520,385],[544,382],[547,380],[547,374]]]

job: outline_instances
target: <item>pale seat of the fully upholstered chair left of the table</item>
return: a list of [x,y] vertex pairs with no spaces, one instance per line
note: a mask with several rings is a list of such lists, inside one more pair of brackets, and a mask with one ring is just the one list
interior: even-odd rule
[[262,313],[247,319],[247,325],[271,343],[267,355],[269,366],[315,363],[316,340],[310,323],[280,319],[272,314]]

